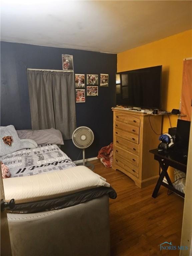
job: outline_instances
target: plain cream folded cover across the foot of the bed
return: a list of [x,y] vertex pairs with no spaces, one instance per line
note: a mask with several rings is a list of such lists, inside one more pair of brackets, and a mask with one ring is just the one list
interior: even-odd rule
[[95,187],[110,187],[104,178],[85,166],[33,176],[3,179],[5,200],[16,203],[59,197]]

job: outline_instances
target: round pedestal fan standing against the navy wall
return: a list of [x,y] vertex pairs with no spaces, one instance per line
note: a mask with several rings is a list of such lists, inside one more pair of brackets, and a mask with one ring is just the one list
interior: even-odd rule
[[[80,126],[73,132],[72,141],[76,147],[83,149],[83,165],[85,165],[85,149],[94,141],[93,131],[89,127]],[[86,164],[86,166],[92,166],[91,169],[94,169],[92,164]]]

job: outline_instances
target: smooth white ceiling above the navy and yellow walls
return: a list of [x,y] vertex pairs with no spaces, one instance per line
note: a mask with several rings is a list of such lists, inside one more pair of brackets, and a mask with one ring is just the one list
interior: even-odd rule
[[1,41],[119,53],[192,27],[192,1],[1,0]]

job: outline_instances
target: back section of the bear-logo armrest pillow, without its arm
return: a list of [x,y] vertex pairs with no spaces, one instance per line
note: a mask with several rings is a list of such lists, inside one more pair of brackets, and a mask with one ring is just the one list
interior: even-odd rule
[[1,156],[11,154],[20,149],[20,139],[13,125],[0,129]]

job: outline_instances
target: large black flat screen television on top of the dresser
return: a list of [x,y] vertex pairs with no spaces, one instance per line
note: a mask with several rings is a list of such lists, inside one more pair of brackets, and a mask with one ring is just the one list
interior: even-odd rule
[[116,104],[140,108],[160,108],[162,66],[116,74]]

